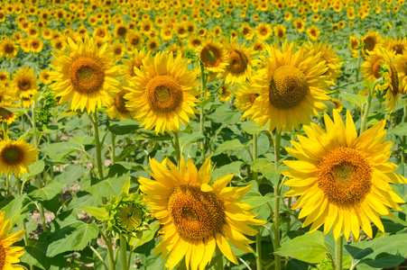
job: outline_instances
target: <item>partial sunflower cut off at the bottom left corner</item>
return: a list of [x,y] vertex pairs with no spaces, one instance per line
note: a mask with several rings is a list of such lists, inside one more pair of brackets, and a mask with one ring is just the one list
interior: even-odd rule
[[25,230],[19,230],[6,236],[10,230],[10,219],[5,220],[5,211],[0,213],[0,269],[24,269],[14,265],[20,262],[19,257],[24,254],[24,247],[11,247],[15,242],[20,241]]

